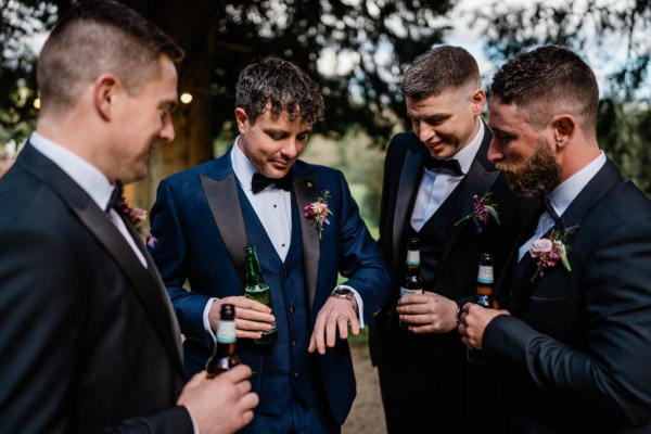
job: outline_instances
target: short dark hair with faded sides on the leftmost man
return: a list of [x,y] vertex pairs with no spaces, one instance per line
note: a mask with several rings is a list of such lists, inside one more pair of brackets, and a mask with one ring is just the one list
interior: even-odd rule
[[104,73],[137,93],[159,74],[159,58],[180,62],[183,51],[163,30],[111,0],[85,1],[56,24],[41,50],[37,82],[41,106],[74,105],[81,89]]

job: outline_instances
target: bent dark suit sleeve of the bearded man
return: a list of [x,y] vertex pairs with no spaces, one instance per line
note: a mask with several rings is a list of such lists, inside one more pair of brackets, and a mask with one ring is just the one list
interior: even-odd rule
[[508,316],[488,324],[483,347],[489,362],[541,390],[642,425],[651,419],[651,221],[592,238],[585,270],[576,264],[572,271],[583,273],[576,315],[585,315],[585,348]]

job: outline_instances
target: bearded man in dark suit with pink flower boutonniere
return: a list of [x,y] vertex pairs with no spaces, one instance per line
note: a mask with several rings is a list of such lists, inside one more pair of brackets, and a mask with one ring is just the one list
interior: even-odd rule
[[[589,66],[553,46],[495,75],[488,157],[542,195],[498,281],[464,305],[463,342],[503,373],[503,433],[651,432],[651,203],[599,150]],[[534,231],[535,229],[535,231]]]

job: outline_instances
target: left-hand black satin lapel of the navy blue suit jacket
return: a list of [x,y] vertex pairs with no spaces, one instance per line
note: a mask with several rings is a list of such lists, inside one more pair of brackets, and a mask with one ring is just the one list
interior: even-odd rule
[[221,240],[233,261],[242,282],[244,278],[244,247],[246,246],[246,229],[242,218],[242,207],[235,184],[235,174],[230,173],[221,179],[213,179],[201,175],[201,184],[213,213]]

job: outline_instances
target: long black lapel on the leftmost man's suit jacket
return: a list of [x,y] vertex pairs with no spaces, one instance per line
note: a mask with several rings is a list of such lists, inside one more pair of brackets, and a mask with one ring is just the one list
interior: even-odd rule
[[[164,294],[164,286],[158,284],[159,280],[153,279],[152,273],[142,267],[131,246],[106,213],[100,209],[90,196],[59,166],[30,145],[25,146],[22,154],[26,163],[25,168],[49,186],[66,203],[68,208],[104,246],[124,271],[164,346],[182,374],[183,368],[178,342],[180,334],[175,334],[175,331],[178,331],[178,326],[175,329],[175,321],[171,320],[165,304],[164,297],[167,295]],[[143,250],[140,240],[136,240],[136,244]],[[155,272],[155,266],[152,265],[151,267],[153,267],[150,268],[152,272]]]

